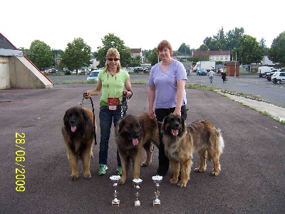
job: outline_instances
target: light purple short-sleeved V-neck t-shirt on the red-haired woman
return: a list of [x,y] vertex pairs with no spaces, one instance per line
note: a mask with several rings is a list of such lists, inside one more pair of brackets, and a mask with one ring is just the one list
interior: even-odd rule
[[[151,68],[148,86],[155,87],[155,108],[173,108],[176,106],[178,80],[187,80],[186,70],[180,61],[172,58],[166,71],[162,71],[160,63]],[[184,90],[182,106],[185,104],[187,104],[187,100]]]

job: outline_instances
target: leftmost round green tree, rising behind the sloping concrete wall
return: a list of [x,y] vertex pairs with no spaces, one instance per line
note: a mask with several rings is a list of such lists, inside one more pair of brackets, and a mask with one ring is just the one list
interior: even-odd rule
[[51,51],[51,47],[43,41],[32,41],[26,56],[42,70],[53,64],[53,52]]

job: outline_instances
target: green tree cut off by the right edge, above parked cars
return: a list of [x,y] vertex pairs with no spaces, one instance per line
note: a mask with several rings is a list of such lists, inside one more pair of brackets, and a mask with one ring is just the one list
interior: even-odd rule
[[285,66],[285,31],[272,41],[268,54],[271,61]]

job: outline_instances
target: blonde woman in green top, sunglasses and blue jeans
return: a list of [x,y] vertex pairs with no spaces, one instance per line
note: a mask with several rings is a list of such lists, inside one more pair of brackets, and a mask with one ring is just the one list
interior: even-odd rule
[[[112,121],[114,126],[121,118],[121,104],[123,93],[126,98],[133,96],[130,85],[130,75],[127,71],[120,69],[120,54],[117,49],[109,49],[106,54],[104,70],[98,74],[96,88],[86,91],[86,98],[92,95],[100,97],[100,151],[99,151],[99,170],[98,175],[105,175],[108,169],[108,144]],[[118,173],[122,174],[120,156],[117,151]]]

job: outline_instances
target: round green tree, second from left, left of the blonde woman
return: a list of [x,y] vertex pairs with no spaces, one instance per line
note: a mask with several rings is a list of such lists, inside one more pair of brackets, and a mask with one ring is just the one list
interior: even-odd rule
[[68,68],[78,68],[90,66],[91,48],[80,37],[67,44],[67,48],[61,56],[61,62]]

